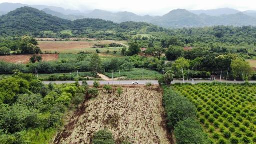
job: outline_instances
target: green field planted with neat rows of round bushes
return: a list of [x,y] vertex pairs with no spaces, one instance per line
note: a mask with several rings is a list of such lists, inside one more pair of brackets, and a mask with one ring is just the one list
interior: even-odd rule
[[173,88],[194,103],[198,120],[214,143],[256,142],[256,85],[196,84]]

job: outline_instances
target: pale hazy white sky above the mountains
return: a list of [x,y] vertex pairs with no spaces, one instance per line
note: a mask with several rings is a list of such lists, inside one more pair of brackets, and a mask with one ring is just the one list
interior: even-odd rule
[[177,8],[197,10],[228,7],[241,11],[256,10],[256,0],[0,0],[2,2],[51,5],[80,11],[130,11],[140,15],[162,15]]

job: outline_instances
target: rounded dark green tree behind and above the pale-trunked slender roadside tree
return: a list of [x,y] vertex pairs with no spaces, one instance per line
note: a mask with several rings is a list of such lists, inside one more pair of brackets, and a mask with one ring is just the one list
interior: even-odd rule
[[170,46],[165,52],[168,60],[176,60],[184,56],[184,48],[180,46]]

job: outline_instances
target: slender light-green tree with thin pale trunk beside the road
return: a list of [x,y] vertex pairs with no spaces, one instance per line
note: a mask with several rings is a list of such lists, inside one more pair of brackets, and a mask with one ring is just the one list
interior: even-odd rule
[[183,57],[179,57],[173,64],[172,67],[176,70],[179,70],[182,73],[183,83],[185,83],[184,70],[189,67],[190,60],[187,60]]

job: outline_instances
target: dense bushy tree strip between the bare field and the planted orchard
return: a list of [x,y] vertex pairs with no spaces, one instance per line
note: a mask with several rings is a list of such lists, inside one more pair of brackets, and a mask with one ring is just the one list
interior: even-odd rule
[[196,108],[188,99],[171,88],[165,88],[163,105],[168,128],[174,132],[176,143],[210,143],[200,123],[196,121]]

